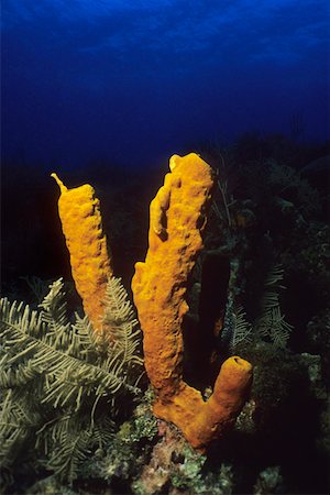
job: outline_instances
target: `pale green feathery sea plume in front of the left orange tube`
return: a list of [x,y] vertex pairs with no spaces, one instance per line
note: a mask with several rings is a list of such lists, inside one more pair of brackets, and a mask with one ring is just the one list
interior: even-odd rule
[[109,444],[124,406],[140,394],[140,329],[118,278],[106,295],[105,332],[67,317],[64,283],[32,310],[0,299],[0,463],[9,473],[29,453],[72,482],[80,463]]

